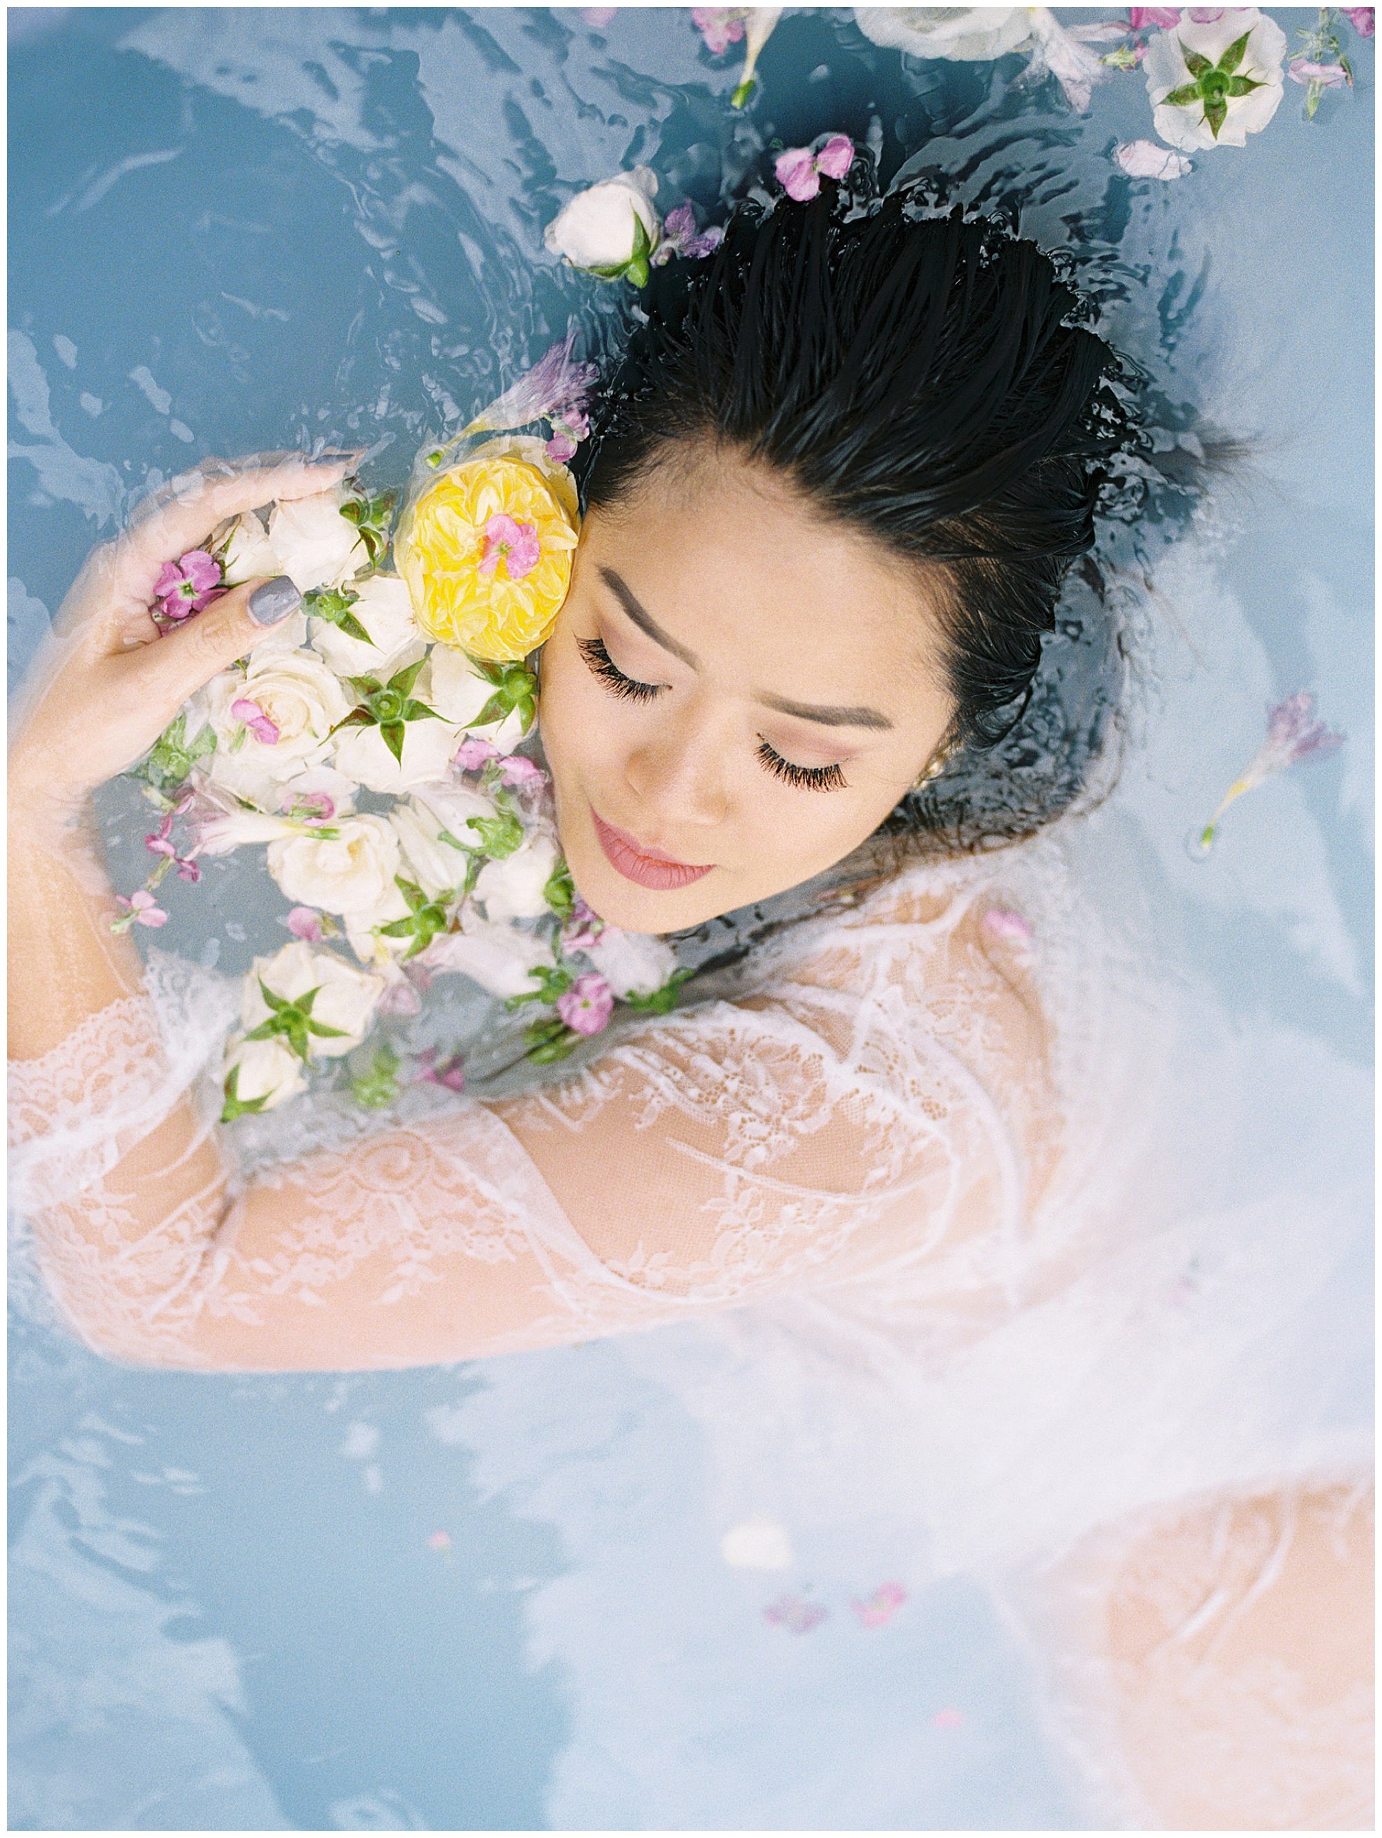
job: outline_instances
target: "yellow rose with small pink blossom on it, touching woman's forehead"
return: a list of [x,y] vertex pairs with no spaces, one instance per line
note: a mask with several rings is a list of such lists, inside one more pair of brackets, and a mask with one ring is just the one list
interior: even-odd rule
[[542,441],[491,441],[399,524],[393,559],[417,623],[476,658],[537,651],[566,599],[579,520],[572,474]]

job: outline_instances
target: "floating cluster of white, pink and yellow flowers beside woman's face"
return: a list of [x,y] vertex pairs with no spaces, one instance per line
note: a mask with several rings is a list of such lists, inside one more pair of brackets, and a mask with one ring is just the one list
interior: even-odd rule
[[[156,888],[200,858],[266,845],[292,943],[255,958],[224,1062],[224,1112],[268,1110],[421,1013],[439,974],[531,1009],[526,1053],[555,1061],[616,1002],[671,1009],[669,945],[603,925],[561,857],[526,658],[566,597],[579,509],[562,463],[586,432],[594,371],[555,346],[448,447],[425,452],[402,513],[349,485],[211,531],[164,570],[175,625],[255,575],[290,575],[301,610],[200,689],[132,776],[160,858],[116,930],[164,925]],[[516,428],[548,421],[544,443]],[[393,570],[388,568],[391,551]],[[362,796],[373,798],[362,809]],[[331,948],[344,941],[353,954]],[[463,1084],[456,1059],[384,1042],[353,1077],[382,1105],[410,1075]]]

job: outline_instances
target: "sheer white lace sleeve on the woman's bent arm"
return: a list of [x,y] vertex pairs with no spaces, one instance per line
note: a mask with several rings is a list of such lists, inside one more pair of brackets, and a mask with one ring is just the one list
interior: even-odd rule
[[[81,1090],[101,1040],[123,1072]],[[766,1000],[647,1022],[504,1103],[419,1088],[371,1134],[248,1178],[210,1079],[173,1105],[197,1059],[110,1013],[44,1073],[72,1103],[31,1140],[90,1138],[79,1176],[29,1184],[44,1276],[88,1344],[134,1364],[397,1367],[588,1340],[915,1261],[959,1169],[967,1191],[1002,1187],[957,1073],[928,1112]]]

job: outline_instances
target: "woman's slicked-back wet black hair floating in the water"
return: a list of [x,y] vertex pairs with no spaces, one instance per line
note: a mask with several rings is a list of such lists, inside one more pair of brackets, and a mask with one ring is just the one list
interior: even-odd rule
[[889,833],[945,847],[1027,834],[1099,752],[1114,697],[1055,744],[1035,693],[1066,575],[1139,437],[1086,316],[1051,257],[1000,222],[825,180],[805,206],[739,204],[715,254],[654,268],[605,366],[575,461],[584,504],[616,509],[709,445],[924,572],[957,754]]

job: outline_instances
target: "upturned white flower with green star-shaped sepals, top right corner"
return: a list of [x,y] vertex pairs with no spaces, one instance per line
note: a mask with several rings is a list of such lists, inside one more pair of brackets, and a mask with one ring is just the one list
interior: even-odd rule
[[1242,147],[1281,105],[1286,35],[1257,7],[1224,7],[1207,26],[1182,13],[1143,59],[1156,132],[1169,147]]

